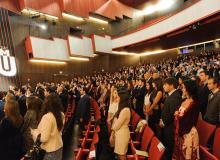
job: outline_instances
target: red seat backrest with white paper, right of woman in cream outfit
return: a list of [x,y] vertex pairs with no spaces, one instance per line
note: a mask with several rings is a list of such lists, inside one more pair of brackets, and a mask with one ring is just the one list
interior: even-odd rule
[[160,160],[164,154],[165,147],[158,140],[157,137],[153,137],[149,150],[148,160]]

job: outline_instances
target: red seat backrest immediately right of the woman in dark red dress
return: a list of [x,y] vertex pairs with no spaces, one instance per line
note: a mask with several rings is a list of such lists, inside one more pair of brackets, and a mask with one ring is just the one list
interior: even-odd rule
[[214,134],[216,126],[209,124],[204,120],[198,119],[196,128],[199,134],[199,144],[206,146],[210,137]]

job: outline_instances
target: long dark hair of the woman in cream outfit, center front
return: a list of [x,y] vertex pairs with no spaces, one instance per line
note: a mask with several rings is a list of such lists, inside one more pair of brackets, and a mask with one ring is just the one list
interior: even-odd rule
[[121,91],[118,93],[119,97],[120,97],[120,102],[118,105],[118,111],[115,114],[115,117],[119,117],[121,111],[124,108],[129,108],[130,109],[130,100],[129,100],[129,94],[127,93],[127,91]]

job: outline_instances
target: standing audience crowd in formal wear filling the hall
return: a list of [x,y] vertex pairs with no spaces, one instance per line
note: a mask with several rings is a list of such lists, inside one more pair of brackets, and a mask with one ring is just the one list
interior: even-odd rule
[[93,97],[119,159],[126,159],[133,109],[165,146],[164,159],[197,160],[197,119],[220,126],[219,78],[220,52],[202,51],[114,73],[78,76],[70,82],[10,86],[0,92],[0,159],[21,159],[40,136],[44,160],[61,160],[68,104],[75,100],[75,123],[83,129],[90,120]]

